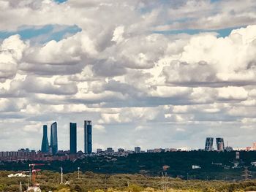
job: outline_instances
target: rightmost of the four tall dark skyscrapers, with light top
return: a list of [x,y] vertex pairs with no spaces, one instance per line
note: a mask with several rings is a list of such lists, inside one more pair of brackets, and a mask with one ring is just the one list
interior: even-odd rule
[[89,154],[92,151],[91,140],[91,120],[84,121],[84,153]]

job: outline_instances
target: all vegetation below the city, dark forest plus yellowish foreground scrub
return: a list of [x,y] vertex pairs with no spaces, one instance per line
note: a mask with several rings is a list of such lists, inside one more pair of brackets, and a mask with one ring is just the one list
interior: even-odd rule
[[[128,157],[92,156],[77,161],[44,162],[37,166],[37,182],[42,191],[256,191],[256,152],[241,152],[236,161],[235,152],[172,152],[138,153]],[[33,162],[36,163],[36,162]],[[39,162],[38,162],[39,163]],[[234,163],[238,168],[233,169]],[[27,171],[31,162],[1,162],[0,191],[23,190],[29,177],[7,177],[8,174]],[[192,165],[201,169],[192,169]],[[64,183],[60,168],[64,168]],[[161,177],[163,166],[170,166]],[[244,166],[248,166],[252,180],[244,181]],[[78,167],[80,178],[78,179]],[[48,171],[50,170],[50,171]]]

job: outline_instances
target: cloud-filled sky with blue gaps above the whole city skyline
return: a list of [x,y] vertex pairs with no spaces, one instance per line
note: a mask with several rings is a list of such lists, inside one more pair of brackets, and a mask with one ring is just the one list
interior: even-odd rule
[[[93,150],[256,135],[254,0],[0,0],[0,150],[92,120]],[[50,129],[48,129],[50,132]]]

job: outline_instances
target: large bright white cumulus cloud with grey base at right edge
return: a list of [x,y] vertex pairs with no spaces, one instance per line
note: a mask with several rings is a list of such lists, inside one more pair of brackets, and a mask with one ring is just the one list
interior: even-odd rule
[[168,58],[170,64],[162,70],[166,82],[192,86],[254,85],[255,32],[255,26],[247,26],[233,30],[225,38],[213,34],[192,37],[181,53]]

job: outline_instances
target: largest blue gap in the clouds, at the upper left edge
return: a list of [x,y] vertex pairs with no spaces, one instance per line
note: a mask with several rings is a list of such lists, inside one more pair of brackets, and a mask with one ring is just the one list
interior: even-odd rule
[[14,34],[19,34],[21,39],[31,39],[31,42],[35,43],[45,43],[50,40],[56,40],[58,42],[79,31],[81,29],[75,25],[22,26],[17,31],[0,31],[0,39],[6,39]]

